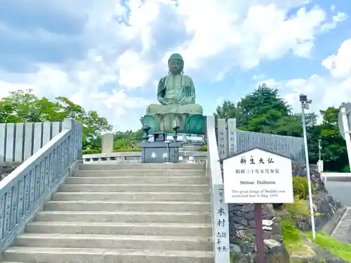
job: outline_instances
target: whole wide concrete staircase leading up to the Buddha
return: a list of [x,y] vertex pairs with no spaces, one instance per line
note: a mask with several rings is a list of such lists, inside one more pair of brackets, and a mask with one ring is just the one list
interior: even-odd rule
[[201,163],[82,165],[4,262],[213,263],[208,191]]

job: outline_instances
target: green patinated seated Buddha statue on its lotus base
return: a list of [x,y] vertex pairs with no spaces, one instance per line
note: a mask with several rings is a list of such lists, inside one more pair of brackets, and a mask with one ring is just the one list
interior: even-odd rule
[[160,79],[157,100],[150,104],[140,121],[150,133],[173,131],[176,121],[179,133],[204,134],[206,118],[200,104],[195,103],[194,82],[183,74],[184,60],[178,53],[168,59],[168,75]]

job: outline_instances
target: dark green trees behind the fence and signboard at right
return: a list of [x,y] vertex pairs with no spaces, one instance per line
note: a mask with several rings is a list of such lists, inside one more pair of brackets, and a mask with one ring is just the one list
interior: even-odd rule
[[[345,141],[338,131],[338,108],[321,110],[322,123],[317,115],[306,114],[307,145],[310,163],[319,158],[318,140],[322,140],[322,159],[326,169],[341,171],[347,163]],[[303,137],[300,114],[278,95],[278,90],[263,84],[237,104],[226,100],[216,108],[218,118],[236,118],[240,130]]]

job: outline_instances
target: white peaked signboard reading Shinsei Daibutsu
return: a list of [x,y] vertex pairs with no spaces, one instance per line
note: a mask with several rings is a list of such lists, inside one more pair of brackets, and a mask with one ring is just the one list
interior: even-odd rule
[[291,159],[260,149],[223,160],[225,203],[293,203]]

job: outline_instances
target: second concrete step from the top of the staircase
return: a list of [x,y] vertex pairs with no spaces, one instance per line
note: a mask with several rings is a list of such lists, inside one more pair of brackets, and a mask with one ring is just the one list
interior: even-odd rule
[[201,170],[77,170],[73,177],[76,176],[93,176],[93,177],[109,177],[109,176],[206,176],[205,171]]

